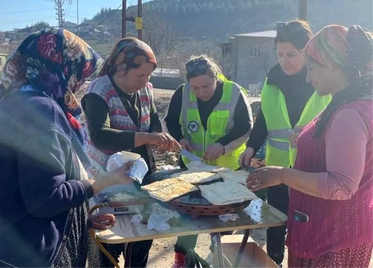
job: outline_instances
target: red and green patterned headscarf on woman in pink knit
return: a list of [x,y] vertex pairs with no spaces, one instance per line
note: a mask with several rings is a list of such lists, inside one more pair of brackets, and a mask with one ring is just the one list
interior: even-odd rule
[[330,25],[321,29],[307,44],[305,54],[327,68],[344,68],[349,85],[335,94],[317,120],[315,137],[320,137],[333,113],[345,103],[373,100],[373,34],[358,25],[349,29]]

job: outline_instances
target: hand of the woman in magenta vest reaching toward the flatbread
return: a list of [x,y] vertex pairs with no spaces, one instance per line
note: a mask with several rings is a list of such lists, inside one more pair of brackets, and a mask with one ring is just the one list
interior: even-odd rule
[[246,187],[255,192],[283,182],[284,170],[279,166],[266,166],[251,171],[246,179]]

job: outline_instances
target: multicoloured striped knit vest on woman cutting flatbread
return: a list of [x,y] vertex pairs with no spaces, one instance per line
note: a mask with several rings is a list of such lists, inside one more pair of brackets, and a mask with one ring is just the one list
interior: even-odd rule
[[[86,94],[95,93],[102,97],[109,106],[110,128],[122,131],[141,131],[149,132],[150,129],[150,107],[153,102],[153,86],[148,83],[138,93],[141,103],[141,126],[137,129],[131,117],[128,115],[122,101],[116,93],[109,77],[107,75],[99,77],[91,82],[88,86]],[[149,159],[153,159],[150,146],[147,146]],[[91,166],[87,172],[90,177],[96,177],[106,171],[106,164],[109,157],[113,155],[113,151],[105,151],[97,149],[92,141],[88,140],[87,153],[91,160]]]

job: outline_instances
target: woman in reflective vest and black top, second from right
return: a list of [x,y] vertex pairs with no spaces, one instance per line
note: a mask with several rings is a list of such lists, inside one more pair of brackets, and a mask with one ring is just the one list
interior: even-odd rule
[[[266,166],[294,165],[294,144],[302,128],[327,105],[329,96],[317,96],[315,89],[305,80],[303,48],[313,36],[307,22],[296,20],[280,23],[274,40],[278,64],[268,74],[261,92],[261,109],[257,115],[247,149],[241,156],[242,166],[250,166],[251,158],[266,137]],[[270,205],[287,214],[289,191],[286,185],[267,189]],[[267,253],[280,264],[285,252],[286,227],[267,229]]]

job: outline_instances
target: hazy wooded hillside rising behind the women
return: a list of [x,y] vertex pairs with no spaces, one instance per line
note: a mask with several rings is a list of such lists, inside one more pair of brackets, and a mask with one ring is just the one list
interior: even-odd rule
[[[371,10],[372,0],[310,0],[308,20],[314,31],[328,24],[371,28]],[[297,12],[298,0],[154,0],[143,4],[143,38],[160,61],[171,59],[174,63],[177,58],[176,65],[180,65],[191,54],[219,57],[217,44],[229,37],[273,29],[276,21],[294,19]],[[129,7],[127,14],[136,16],[137,6]],[[44,26],[42,22],[15,33],[12,43]],[[76,32],[77,25],[66,22],[65,28]],[[107,57],[121,38],[122,10],[102,8],[93,18],[85,18],[79,28],[80,36]],[[127,35],[137,35],[132,22],[127,22]],[[168,63],[163,65],[173,68]]]

